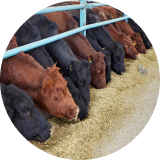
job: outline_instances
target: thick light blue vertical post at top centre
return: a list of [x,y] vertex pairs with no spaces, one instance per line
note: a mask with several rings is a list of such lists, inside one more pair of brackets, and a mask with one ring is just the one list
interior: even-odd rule
[[[84,8],[80,9],[80,27],[82,27],[86,25],[86,0],[80,0],[80,4],[84,4]],[[86,30],[82,33],[86,36]]]

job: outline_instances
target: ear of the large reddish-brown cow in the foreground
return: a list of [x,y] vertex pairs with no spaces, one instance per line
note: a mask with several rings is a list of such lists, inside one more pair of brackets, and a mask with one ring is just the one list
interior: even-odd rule
[[53,84],[54,84],[53,79],[51,79],[51,77],[49,76],[46,76],[42,82],[41,94],[44,96],[48,96],[49,92],[52,89]]

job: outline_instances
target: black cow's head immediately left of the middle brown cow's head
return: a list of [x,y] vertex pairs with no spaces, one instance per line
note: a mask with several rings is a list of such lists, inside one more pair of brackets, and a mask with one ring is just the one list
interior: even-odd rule
[[71,61],[70,63],[70,78],[72,79],[75,87],[79,90],[79,93],[84,100],[85,104],[88,105],[90,102],[90,82],[91,74],[89,67],[92,63],[87,60],[82,61]]

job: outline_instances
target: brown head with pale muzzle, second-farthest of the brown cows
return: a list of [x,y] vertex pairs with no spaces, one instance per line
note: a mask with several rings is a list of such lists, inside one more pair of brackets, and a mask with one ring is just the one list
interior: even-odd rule
[[121,44],[124,46],[123,49],[125,51],[126,58],[137,59],[140,56],[140,54],[133,46],[132,40],[125,33],[122,32],[121,34],[119,34],[119,40]]

